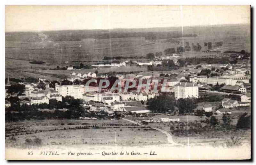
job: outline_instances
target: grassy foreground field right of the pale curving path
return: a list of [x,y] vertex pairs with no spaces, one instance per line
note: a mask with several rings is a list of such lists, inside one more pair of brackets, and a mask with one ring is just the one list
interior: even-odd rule
[[[233,114],[234,112],[234,114]],[[244,112],[247,112],[250,114],[250,109],[244,108],[244,109],[234,109],[231,114],[232,122],[231,125],[236,126],[237,120],[239,118],[238,115],[243,114]],[[198,122],[202,125],[202,127],[206,126],[205,123],[201,122],[201,120],[205,120],[208,117],[199,117],[199,116],[167,116],[167,115],[156,115],[155,117],[169,117],[169,118],[180,118],[180,122],[184,123],[185,126],[189,122]],[[220,124],[223,123],[222,121],[222,115],[215,115],[215,117],[219,120]],[[131,120],[138,120],[143,118],[129,118]],[[208,118],[210,119],[210,118]],[[175,136],[172,134],[172,131],[170,130],[170,127],[174,126],[176,127],[178,122],[169,123],[169,122],[159,122],[159,123],[148,123],[148,126],[163,129],[170,133],[172,135],[172,139],[174,142],[184,145],[184,146],[215,146],[218,147],[218,145],[223,145],[227,142],[227,140],[230,140],[231,136],[240,137],[243,144],[250,145],[251,144],[251,130],[242,130],[242,131],[215,131],[203,133],[203,134],[196,134],[195,136]]]

